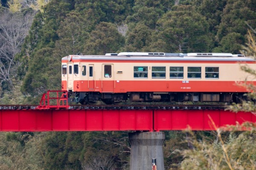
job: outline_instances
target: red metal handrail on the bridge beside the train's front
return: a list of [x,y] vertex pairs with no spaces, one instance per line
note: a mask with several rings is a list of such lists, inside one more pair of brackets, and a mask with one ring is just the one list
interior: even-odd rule
[[67,91],[47,91],[43,94],[36,109],[66,109],[69,107]]

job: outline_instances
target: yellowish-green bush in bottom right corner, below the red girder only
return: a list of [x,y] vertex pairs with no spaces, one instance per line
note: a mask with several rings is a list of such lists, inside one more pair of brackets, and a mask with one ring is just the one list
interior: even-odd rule
[[[190,150],[178,151],[183,155],[180,164],[182,170],[253,170],[256,168],[256,140],[255,127],[251,133],[235,133],[233,130],[223,139],[223,131],[217,129],[218,138],[214,142],[198,141],[191,134],[192,144]],[[251,135],[250,135],[251,134]]]

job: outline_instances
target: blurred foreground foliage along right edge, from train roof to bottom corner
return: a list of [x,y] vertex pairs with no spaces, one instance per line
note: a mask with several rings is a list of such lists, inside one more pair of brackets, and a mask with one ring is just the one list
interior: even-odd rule
[[[252,29],[253,33],[256,31]],[[256,41],[255,36],[249,31],[247,34],[248,43],[241,50],[242,54],[251,56],[256,59]],[[251,79],[256,79],[256,71],[248,67],[248,65],[242,65],[241,69],[251,74]],[[251,80],[250,79],[250,80]],[[243,100],[239,104],[233,104],[228,107],[231,111],[238,112],[256,112],[255,100],[256,100],[256,86],[250,82],[250,80],[240,83],[248,89],[247,99]],[[212,122],[214,125],[214,122]],[[214,125],[215,127],[215,125]],[[190,132],[192,136],[192,142],[195,146],[192,150],[179,151],[184,157],[181,162],[181,169],[230,169],[230,170],[255,170],[256,169],[256,123],[245,122],[242,125],[233,125],[222,128],[216,128],[217,138],[214,142],[207,142],[198,140],[195,138],[194,133]],[[241,132],[241,130],[247,130]],[[227,139],[223,139],[225,130],[230,132]]]

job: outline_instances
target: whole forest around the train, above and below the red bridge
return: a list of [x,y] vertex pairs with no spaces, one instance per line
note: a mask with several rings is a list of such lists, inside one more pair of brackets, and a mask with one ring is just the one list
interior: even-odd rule
[[[60,90],[61,58],[69,54],[227,52],[256,58],[255,0],[0,2],[1,105],[38,104],[46,91]],[[256,99],[256,89],[248,88]],[[256,111],[248,102],[230,108]],[[166,170],[255,170],[256,125],[243,126],[250,130],[165,131]],[[5,170],[128,170],[130,151],[126,131],[0,133]]]

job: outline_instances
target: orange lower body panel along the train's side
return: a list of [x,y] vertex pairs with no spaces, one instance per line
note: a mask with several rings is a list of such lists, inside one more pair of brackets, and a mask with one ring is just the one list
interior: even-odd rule
[[[63,81],[63,84],[67,82]],[[88,81],[74,81],[74,91],[94,92],[247,92],[234,81],[89,81],[95,88],[88,88]],[[252,82],[256,85],[256,82]],[[103,86],[103,87],[102,87]],[[112,88],[115,86],[115,88]],[[113,90],[112,90],[113,89]],[[63,89],[65,90],[65,89]]]

